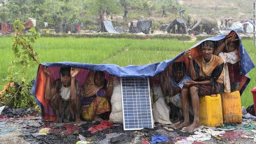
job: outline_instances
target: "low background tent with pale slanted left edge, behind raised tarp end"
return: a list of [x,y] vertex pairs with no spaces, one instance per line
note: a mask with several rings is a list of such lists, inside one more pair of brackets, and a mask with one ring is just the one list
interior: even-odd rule
[[199,24],[203,24],[202,29],[204,30],[204,32],[206,32],[207,34],[211,33],[212,28],[214,28],[214,30],[218,29],[218,24],[215,21],[210,21],[210,20],[206,20],[204,18],[201,18],[201,20],[198,20],[198,22],[196,22],[196,24],[194,24],[194,26],[192,26],[190,29],[194,30],[194,31],[200,31],[200,27]]

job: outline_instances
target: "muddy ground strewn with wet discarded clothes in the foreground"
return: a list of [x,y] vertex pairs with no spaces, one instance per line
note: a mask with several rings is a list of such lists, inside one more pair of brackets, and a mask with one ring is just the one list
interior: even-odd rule
[[[126,140],[119,142],[119,144],[144,144],[144,142],[150,142],[152,136],[157,135],[168,137],[167,142],[160,142],[161,144],[177,142],[193,144],[186,138],[194,135],[194,133],[174,130],[171,125],[155,124],[154,129],[123,131],[122,125],[117,124],[91,134],[88,128],[97,124],[100,123],[83,121],[81,126],[74,126],[74,122],[50,124],[50,122],[42,122],[41,117],[35,115],[20,118],[6,118],[0,115],[0,144],[75,144],[81,140],[80,138],[94,144],[110,144],[113,138]],[[243,118],[242,123],[230,123],[223,127],[232,127],[236,130],[226,131],[222,136],[211,136],[211,140],[194,142],[194,144],[254,144],[256,143],[254,141],[255,125],[255,117],[253,119]],[[24,140],[24,138],[30,141]]]

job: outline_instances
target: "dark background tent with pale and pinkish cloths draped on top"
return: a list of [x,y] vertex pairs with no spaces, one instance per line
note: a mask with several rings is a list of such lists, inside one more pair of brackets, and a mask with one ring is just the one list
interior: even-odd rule
[[150,28],[152,26],[152,20],[144,20],[144,21],[135,21],[132,22],[129,32],[130,33],[140,33],[149,34]]

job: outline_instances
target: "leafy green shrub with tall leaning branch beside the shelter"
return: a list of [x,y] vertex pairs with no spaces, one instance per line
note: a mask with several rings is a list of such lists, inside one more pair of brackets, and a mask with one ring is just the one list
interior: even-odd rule
[[14,21],[14,34],[12,35],[12,51],[15,60],[10,62],[6,81],[14,83],[9,86],[4,96],[1,98],[0,105],[19,107],[38,107],[34,97],[30,94],[33,85],[33,77],[28,75],[31,68],[40,64],[37,53],[30,43],[35,42],[40,37],[35,28],[30,28],[28,33],[25,31],[23,22],[18,18]]

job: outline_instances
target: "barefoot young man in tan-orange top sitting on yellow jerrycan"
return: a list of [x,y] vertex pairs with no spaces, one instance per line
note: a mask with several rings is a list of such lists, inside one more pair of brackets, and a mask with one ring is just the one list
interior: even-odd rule
[[[184,121],[174,128],[182,129],[185,132],[194,131],[200,126],[199,123],[199,96],[219,94],[220,86],[223,83],[224,61],[219,56],[213,55],[214,43],[210,40],[200,44],[201,55],[192,60],[191,49],[185,51],[190,67],[192,80],[184,82],[181,89],[182,112]],[[189,98],[190,96],[190,98]],[[192,103],[194,120],[189,120],[189,100]]]

